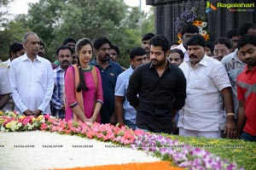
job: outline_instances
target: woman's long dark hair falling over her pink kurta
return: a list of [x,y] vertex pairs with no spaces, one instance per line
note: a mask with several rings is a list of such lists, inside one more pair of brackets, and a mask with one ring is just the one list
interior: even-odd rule
[[[92,43],[90,42],[90,39],[87,37],[84,37],[80,39],[77,44],[75,51],[77,54],[79,54],[79,50],[84,46],[84,45],[90,45],[91,48],[93,48]],[[88,91],[88,87],[86,85],[85,79],[84,79],[84,72],[82,71],[81,65],[80,65],[80,60],[78,59],[78,67],[79,67],[79,86],[77,88],[77,92],[83,91]]]

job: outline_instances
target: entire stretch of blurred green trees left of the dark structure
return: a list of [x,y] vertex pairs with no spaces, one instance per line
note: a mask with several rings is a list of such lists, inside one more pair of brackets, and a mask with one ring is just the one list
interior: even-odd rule
[[[0,8],[12,0],[0,0]],[[9,46],[21,42],[27,31],[34,31],[45,44],[46,56],[56,59],[55,51],[66,37],[77,41],[89,37],[108,37],[120,48],[119,63],[129,66],[129,51],[141,46],[143,34],[154,33],[154,11],[141,12],[138,7],[129,7],[123,0],[40,0],[30,3],[27,14],[16,15],[7,20],[0,13],[0,56],[9,58]]]

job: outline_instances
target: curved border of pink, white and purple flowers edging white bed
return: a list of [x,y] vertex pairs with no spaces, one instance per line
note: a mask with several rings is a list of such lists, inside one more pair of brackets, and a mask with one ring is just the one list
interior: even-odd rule
[[0,111],[1,132],[42,130],[76,134],[89,139],[110,141],[137,150],[146,150],[162,160],[173,161],[178,167],[189,169],[237,169],[236,162],[222,160],[207,150],[178,142],[160,134],[145,133],[128,127],[97,122],[65,122],[54,116],[20,116],[15,111]]

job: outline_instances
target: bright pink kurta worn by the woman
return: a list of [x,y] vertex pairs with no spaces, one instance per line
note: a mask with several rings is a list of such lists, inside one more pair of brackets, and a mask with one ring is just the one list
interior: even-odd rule
[[[84,100],[84,115],[86,118],[90,118],[93,114],[96,101],[101,101],[103,103],[103,90],[102,90],[102,77],[98,68],[96,68],[96,77],[97,77],[97,89],[96,84],[92,75],[92,66],[90,70],[84,71],[84,80],[88,91],[83,91],[83,100]],[[67,68],[65,75],[65,95],[67,99],[67,108],[66,108],[66,121],[73,118],[73,111],[69,107],[77,102],[75,99],[75,78],[74,78],[74,68],[70,66]],[[100,114],[97,116],[96,122],[100,121]]]

